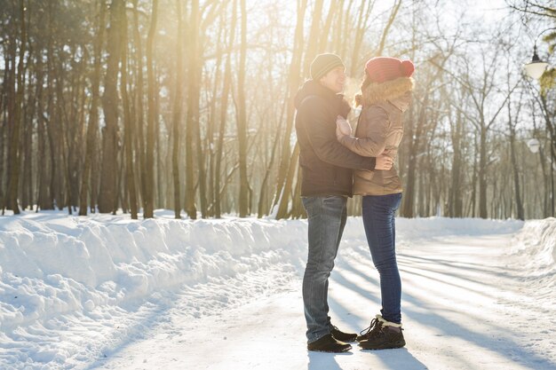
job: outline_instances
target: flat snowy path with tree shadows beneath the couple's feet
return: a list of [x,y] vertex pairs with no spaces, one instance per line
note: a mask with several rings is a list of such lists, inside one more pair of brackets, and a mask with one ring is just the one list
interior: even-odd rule
[[[88,368],[556,369],[554,302],[532,293],[518,272],[520,261],[508,254],[511,244],[512,234],[504,233],[399,243],[405,349],[308,353],[299,272],[276,269],[250,276],[254,287],[265,285],[264,295],[196,318],[192,296],[205,299],[203,291],[214,295],[214,287],[184,289],[140,338]],[[379,308],[377,272],[361,238],[348,236],[339,255],[330,283],[332,320],[359,331]],[[283,273],[291,279],[274,289],[273,279]],[[219,289],[241,295],[241,284],[230,279]]]

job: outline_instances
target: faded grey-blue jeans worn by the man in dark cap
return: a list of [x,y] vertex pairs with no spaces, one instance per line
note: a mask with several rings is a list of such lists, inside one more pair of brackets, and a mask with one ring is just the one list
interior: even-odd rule
[[308,216],[309,254],[303,277],[303,304],[307,322],[307,342],[314,342],[330,333],[328,288],[330,272],[344,227],[346,197],[304,197]]

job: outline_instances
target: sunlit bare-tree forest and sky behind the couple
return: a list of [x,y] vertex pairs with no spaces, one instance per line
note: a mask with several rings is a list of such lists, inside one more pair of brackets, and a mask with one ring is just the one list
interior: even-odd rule
[[556,7],[484,3],[0,0],[2,214],[303,217],[293,98],[334,52],[350,101],[415,63],[400,216],[554,216]]

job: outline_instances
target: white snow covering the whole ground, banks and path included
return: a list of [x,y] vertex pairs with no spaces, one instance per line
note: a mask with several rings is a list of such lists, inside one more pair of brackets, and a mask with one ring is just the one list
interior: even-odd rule
[[[406,348],[306,351],[306,221],[0,217],[2,369],[556,369],[556,220],[397,219]],[[379,309],[361,217],[335,325]],[[531,321],[534,320],[534,323]]]

